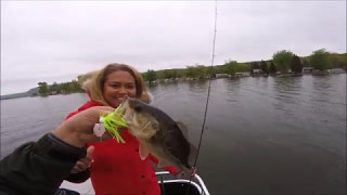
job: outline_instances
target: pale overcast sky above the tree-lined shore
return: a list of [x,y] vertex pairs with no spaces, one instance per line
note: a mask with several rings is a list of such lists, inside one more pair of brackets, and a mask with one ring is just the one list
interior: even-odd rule
[[[218,1],[215,65],[346,52],[346,1]],[[1,1],[1,95],[124,63],[210,65],[215,1]]]

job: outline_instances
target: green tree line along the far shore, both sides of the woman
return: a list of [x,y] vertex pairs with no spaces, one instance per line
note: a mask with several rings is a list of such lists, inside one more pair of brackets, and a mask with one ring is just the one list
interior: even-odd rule
[[[246,62],[239,63],[236,61],[226,61],[222,65],[214,67],[205,66],[202,64],[189,65],[180,69],[149,69],[142,73],[145,81],[152,82],[157,79],[176,79],[176,78],[193,78],[203,79],[208,76],[216,76],[217,74],[235,75],[235,73],[248,72],[254,73],[255,69],[261,69],[264,74],[273,75],[277,73],[286,74],[301,73],[303,67],[312,67],[319,72],[325,72],[330,68],[344,68],[346,69],[347,53],[338,54],[327,52],[325,49],[313,51],[311,55],[299,57],[288,50],[278,51],[272,55],[269,61],[260,62]],[[39,82],[39,94],[49,95],[56,93],[74,93],[82,92],[80,87],[86,79],[90,78],[93,73],[79,75],[77,80],[70,82],[63,82],[49,86],[47,82]]]

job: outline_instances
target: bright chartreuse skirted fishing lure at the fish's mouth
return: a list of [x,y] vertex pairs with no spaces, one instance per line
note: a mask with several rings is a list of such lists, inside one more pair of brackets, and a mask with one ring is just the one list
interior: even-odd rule
[[120,107],[121,104],[115,109],[115,112],[100,116],[100,123],[104,126],[105,130],[116,139],[118,143],[126,143],[118,132],[118,128],[128,127],[120,114]]

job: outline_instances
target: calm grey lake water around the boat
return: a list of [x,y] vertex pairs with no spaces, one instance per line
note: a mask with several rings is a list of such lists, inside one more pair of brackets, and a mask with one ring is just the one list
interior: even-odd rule
[[[208,81],[150,87],[197,145]],[[85,94],[1,101],[1,158],[53,130]],[[346,75],[211,80],[197,162],[211,194],[345,194]]]

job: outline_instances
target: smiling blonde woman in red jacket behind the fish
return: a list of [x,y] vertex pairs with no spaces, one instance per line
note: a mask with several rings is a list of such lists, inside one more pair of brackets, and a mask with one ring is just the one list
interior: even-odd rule
[[[141,75],[132,67],[124,64],[110,64],[98,72],[85,86],[90,101],[70,113],[66,118],[92,106],[107,105],[116,108],[125,96],[138,98],[149,103]],[[141,160],[139,142],[128,130],[121,133],[125,144],[115,140],[93,143],[88,146],[92,159],[87,155],[79,160],[72,173],[87,176],[87,168],[91,160],[90,178],[97,195],[106,194],[160,194],[151,160],[157,164],[154,156]],[[172,174],[177,173],[174,167],[166,167]],[[87,179],[87,178],[86,178]]]

